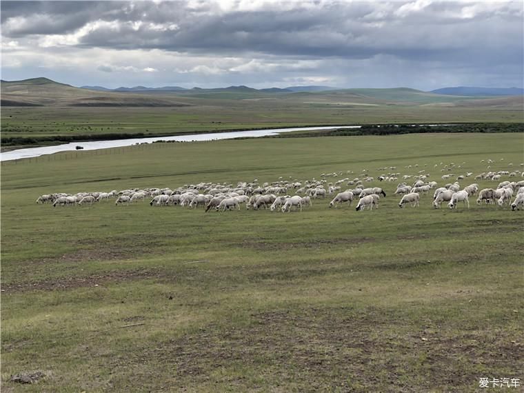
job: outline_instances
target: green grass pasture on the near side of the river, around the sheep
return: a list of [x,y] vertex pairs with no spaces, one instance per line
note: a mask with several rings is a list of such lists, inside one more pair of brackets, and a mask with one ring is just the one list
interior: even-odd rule
[[[523,142],[523,134],[251,139],[3,163],[2,392],[474,392],[481,377],[522,384],[522,210],[474,198],[470,210],[435,210],[430,195],[420,208],[399,209],[398,182],[378,181],[368,184],[387,197],[365,212],[356,203],[330,209],[328,199],[286,214],[34,201],[49,192],[342,172],[326,178],[336,181],[363,170],[423,170],[443,185],[450,163],[456,175],[487,165],[522,171]],[[9,381],[35,370],[46,377],[34,385]]]

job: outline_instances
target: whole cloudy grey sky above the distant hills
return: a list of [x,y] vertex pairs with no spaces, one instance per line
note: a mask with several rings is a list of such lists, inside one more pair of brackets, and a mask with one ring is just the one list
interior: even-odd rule
[[524,1],[1,1],[1,79],[523,87]]

